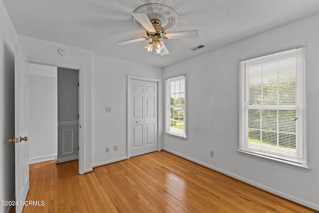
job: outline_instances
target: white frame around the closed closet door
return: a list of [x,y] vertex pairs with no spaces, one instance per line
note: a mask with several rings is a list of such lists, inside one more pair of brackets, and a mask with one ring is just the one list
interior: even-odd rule
[[130,159],[131,156],[131,150],[129,149],[130,144],[130,134],[129,134],[129,129],[130,129],[130,118],[132,116],[131,108],[130,108],[130,80],[141,80],[141,81],[151,81],[151,82],[157,82],[158,83],[158,151],[162,149],[161,147],[161,135],[162,135],[162,86],[161,86],[161,80],[157,78],[149,78],[149,77],[142,77],[142,76],[135,76],[135,75],[128,75],[127,78],[127,157]]

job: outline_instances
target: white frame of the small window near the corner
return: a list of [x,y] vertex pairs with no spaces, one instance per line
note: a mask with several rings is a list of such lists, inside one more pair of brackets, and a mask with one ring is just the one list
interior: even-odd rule
[[[178,79],[178,78],[184,78],[184,89],[185,89],[185,100],[184,100],[184,134],[178,134],[178,133],[174,133],[169,131],[170,128],[170,107],[171,105],[170,103],[170,84],[169,82],[171,82],[174,79]],[[181,138],[181,139],[187,139],[187,83],[186,83],[186,74],[179,74],[179,75],[174,75],[174,76],[170,76],[167,77],[165,79],[165,134],[170,135],[170,136],[174,136],[177,138]]]

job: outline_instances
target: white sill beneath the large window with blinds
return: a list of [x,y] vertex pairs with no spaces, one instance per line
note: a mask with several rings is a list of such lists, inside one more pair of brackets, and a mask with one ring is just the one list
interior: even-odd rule
[[275,159],[275,158],[262,156],[262,155],[258,155],[258,154],[254,154],[254,153],[250,153],[250,152],[245,152],[245,151],[241,151],[241,150],[237,150],[237,152],[239,152],[240,155],[243,155],[243,156],[246,156],[246,157],[255,158],[257,160],[266,161],[268,163],[277,164],[277,165],[280,165],[280,166],[288,167],[288,168],[299,170],[299,171],[302,171],[302,172],[309,172],[309,170],[310,170],[309,167],[304,167],[304,166],[301,166],[299,164],[295,164],[295,163],[292,163],[292,162],[287,162],[287,161],[280,160],[280,159]]

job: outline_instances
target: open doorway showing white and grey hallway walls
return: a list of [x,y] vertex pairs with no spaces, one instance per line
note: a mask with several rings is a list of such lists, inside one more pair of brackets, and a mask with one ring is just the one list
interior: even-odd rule
[[29,64],[30,163],[78,159],[79,70]]

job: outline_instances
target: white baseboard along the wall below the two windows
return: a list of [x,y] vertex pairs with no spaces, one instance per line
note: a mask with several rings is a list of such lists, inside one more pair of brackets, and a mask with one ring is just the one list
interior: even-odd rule
[[180,153],[174,152],[174,151],[172,151],[172,150],[169,150],[169,149],[166,149],[166,148],[163,148],[163,150],[166,151],[166,152],[172,153],[172,154],[174,154],[174,155],[177,155],[177,156],[179,156],[179,157],[181,157],[181,158],[185,158],[185,159],[187,159],[187,160],[189,160],[189,161],[192,161],[192,162],[194,162],[194,163],[197,163],[197,164],[199,164],[199,165],[202,165],[202,166],[204,166],[204,167],[207,167],[207,168],[209,168],[209,169],[212,169],[212,170],[215,170],[215,171],[217,171],[217,172],[220,172],[220,173],[222,173],[222,174],[224,174],[224,175],[227,175],[227,176],[230,176],[230,177],[235,178],[235,179],[237,179],[237,180],[240,180],[240,181],[242,181],[242,182],[245,182],[245,183],[247,183],[247,184],[250,184],[250,185],[252,185],[252,186],[254,186],[254,187],[257,187],[257,188],[259,188],[259,189],[262,189],[262,190],[265,190],[265,191],[270,192],[270,193],[272,193],[272,194],[275,194],[275,195],[277,195],[277,196],[280,196],[280,197],[282,197],[282,198],[288,199],[288,200],[293,201],[293,202],[295,202],[295,203],[298,203],[298,204],[301,204],[301,205],[303,205],[303,206],[306,206],[306,207],[309,207],[309,208],[311,208],[311,209],[314,209],[314,210],[319,211],[319,206],[316,205],[316,204],[312,204],[312,203],[309,203],[309,202],[307,202],[307,201],[304,201],[304,200],[295,198],[295,197],[293,197],[293,196],[290,196],[290,195],[287,195],[287,194],[285,194],[285,193],[279,192],[279,191],[274,190],[274,189],[272,189],[272,188],[263,186],[263,185],[258,184],[258,183],[256,183],[256,182],[250,181],[250,180],[248,180],[248,179],[245,179],[245,178],[242,178],[242,177],[240,177],[240,176],[234,175],[234,174],[232,174],[232,173],[226,172],[226,171],[221,170],[221,169],[219,169],[219,168],[213,167],[213,166],[208,165],[208,164],[206,164],[206,163],[203,163],[203,162],[201,162],[201,161],[197,161],[197,160],[195,160],[195,159],[189,158],[189,157],[187,157],[187,156],[185,156],[185,155],[182,155],[182,154],[180,154]]

